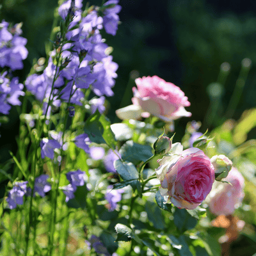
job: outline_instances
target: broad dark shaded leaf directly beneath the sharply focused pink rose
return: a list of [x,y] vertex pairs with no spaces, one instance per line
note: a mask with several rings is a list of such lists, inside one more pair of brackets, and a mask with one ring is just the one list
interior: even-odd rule
[[196,218],[193,218],[186,209],[176,208],[173,217],[174,224],[180,232],[194,228],[197,224]]

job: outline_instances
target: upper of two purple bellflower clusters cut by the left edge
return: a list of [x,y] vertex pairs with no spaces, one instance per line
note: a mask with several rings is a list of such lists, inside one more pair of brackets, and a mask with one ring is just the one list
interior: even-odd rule
[[22,24],[10,28],[9,23],[0,23],[0,67],[10,67],[12,70],[22,69],[22,60],[28,56],[25,45],[27,39],[20,36]]

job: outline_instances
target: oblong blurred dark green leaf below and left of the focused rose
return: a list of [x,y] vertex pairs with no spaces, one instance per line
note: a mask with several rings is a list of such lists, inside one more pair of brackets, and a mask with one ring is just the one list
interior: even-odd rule
[[155,203],[147,201],[145,211],[148,214],[148,220],[152,221],[155,228],[162,230],[166,228],[162,212]]

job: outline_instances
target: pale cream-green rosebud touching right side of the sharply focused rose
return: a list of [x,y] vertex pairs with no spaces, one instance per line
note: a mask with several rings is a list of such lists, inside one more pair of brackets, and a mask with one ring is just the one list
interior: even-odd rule
[[211,158],[211,163],[215,169],[215,179],[220,181],[227,177],[232,168],[232,161],[227,156],[219,155]]

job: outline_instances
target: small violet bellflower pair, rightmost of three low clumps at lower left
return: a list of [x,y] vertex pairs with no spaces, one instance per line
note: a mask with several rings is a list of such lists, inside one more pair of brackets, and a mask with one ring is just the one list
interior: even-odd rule
[[66,195],[66,202],[75,197],[74,193],[76,192],[77,186],[84,186],[84,175],[85,173],[81,170],[68,172],[66,174],[66,177],[70,182],[70,184],[62,188],[63,193]]

